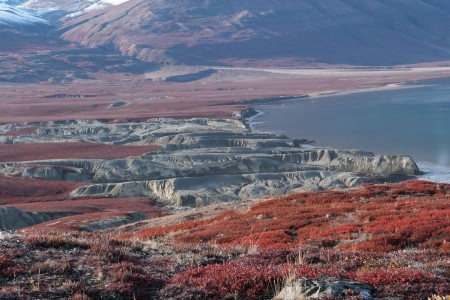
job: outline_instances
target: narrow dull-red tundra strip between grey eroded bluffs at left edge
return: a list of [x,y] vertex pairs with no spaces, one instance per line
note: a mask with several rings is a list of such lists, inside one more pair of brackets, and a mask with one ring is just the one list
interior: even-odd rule
[[158,145],[125,146],[97,143],[0,144],[0,161],[46,159],[113,159],[155,152]]

